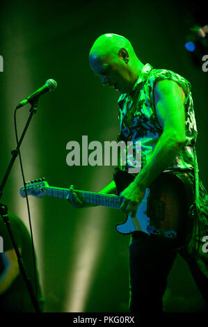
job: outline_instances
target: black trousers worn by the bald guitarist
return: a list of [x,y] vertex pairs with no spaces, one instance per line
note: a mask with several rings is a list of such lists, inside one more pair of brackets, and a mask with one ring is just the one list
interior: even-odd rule
[[[191,242],[193,243],[193,239]],[[202,244],[200,244],[202,245]],[[169,239],[136,233],[129,244],[129,310],[134,313],[163,312],[163,294],[167,277],[178,252]],[[189,264],[193,278],[208,303],[208,253],[200,251],[192,258],[189,251],[179,250]]]

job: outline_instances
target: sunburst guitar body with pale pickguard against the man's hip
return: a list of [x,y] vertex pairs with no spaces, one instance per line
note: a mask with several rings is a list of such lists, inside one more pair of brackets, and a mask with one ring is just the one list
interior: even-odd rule
[[[114,176],[120,193],[133,182],[134,176],[119,170]],[[145,232],[170,239],[184,240],[190,233],[192,221],[188,215],[193,202],[189,175],[162,173],[146,189],[136,217],[127,216],[125,223],[116,226],[122,234]]]

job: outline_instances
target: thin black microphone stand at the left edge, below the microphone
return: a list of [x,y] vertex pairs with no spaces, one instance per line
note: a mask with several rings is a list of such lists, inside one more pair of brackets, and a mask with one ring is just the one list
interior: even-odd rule
[[[11,169],[13,168],[13,164],[15,162],[15,159],[17,158],[17,156],[19,154],[19,148],[20,148],[20,146],[22,144],[24,135],[26,134],[26,130],[29,127],[29,123],[31,122],[31,119],[33,117],[33,114],[36,113],[36,111],[37,111],[38,99],[35,99],[35,100],[31,101],[30,103],[31,103],[31,109],[30,109],[29,118],[28,118],[28,120],[26,122],[26,125],[24,127],[24,130],[22,131],[22,136],[19,139],[19,142],[17,143],[16,149],[11,152],[13,157],[10,160],[10,163],[9,163],[8,168],[6,170],[6,174],[4,175],[3,180],[1,182],[1,186],[0,186],[0,199],[1,199],[1,196],[3,195],[3,188],[4,188],[5,184],[6,184],[6,181],[8,180],[8,176],[10,174]],[[26,185],[24,185],[24,187],[26,189]],[[26,287],[27,287],[27,289],[29,291],[29,294],[31,296],[31,301],[33,303],[33,307],[35,309],[35,312],[41,312],[40,306],[38,304],[38,299],[35,296],[35,293],[33,291],[31,280],[26,276],[26,271],[24,269],[24,264],[22,262],[22,256],[19,253],[19,249],[17,247],[17,244],[15,244],[15,239],[13,237],[13,233],[12,233],[12,231],[10,229],[10,221],[9,221],[9,216],[8,216],[8,207],[6,205],[3,205],[3,203],[0,203],[0,215],[3,218],[4,223],[6,224],[6,227],[8,229],[8,233],[10,234],[10,239],[13,242],[15,253],[17,255],[17,261],[18,261],[18,264],[19,264],[19,269],[20,269],[20,271],[22,273],[22,277],[24,279],[24,282],[26,283]]]

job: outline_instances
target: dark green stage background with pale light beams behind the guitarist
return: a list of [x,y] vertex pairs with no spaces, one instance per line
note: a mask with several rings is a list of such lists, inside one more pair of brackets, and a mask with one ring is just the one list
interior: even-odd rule
[[[22,144],[26,180],[46,177],[51,186],[99,191],[113,168],[67,166],[66,144],[112,141],[118,134],[118,93],[102,87],[88,53],[102,33],[128,38],[142,63],[173,70],[192,85],[198,125],[200,177],[207,179],[207,77],[184,48],[189,26],[182,1],[1,1],[1,179],[15,148],[16,104],[47,79],[58,83],[41,97]],[[22,131],[29,106],[17,113]],[[28,225],[19,196],[19,160],[1,202]],[[129,237],[115,231],[122,213],[104,207],[74,209],[64,200],[30,198],[35,249],[48,312],[126,312]],[[203,310],[191,273],[177,257],[164,298],[167,311]]]

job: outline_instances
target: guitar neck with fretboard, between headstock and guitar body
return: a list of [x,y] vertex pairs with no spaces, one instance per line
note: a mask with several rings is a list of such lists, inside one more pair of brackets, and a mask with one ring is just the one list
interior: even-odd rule
[[[69,189],[62,189],[59,187],[45,186],[42,189],[44,189],[46,196],[50,196],[52,198],[66,199],[69,193]],[[118,196],[115,196],[113,194],[102,194],[79,190],[74,191],[76,191],[77,194],[80,194],[86,201],[86,203],[90,205],[102,205],[104,207],[117,209],[119,208]]]

